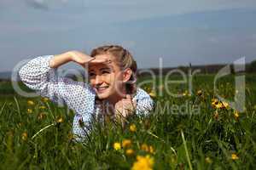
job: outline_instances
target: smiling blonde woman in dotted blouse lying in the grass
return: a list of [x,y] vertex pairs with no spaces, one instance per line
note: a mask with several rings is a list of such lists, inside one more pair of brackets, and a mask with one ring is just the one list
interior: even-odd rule
[[[73,61],[88,71],[90,84],[58,77],[59,66]],[[137,64],[125,48],[117,45],[92,50],[90,56],[79,51],[40,56],[23,65],[20,79],[28,88],[54,102],[65,102],[75,112],[73,133],[83,140],[93,117],[112,116],[123,120],[133,111],[148,114],[153,100],[136,87]]]

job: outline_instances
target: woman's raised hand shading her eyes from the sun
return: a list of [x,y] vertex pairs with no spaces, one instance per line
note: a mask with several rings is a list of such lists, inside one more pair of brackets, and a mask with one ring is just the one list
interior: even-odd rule
[[74,62],[82,65],[84,68],[86,64],[89,64],[89,62],[91,64],[108,62],[108,59],[96,59],[95,57],[90,57],[90,55],[84,54],[79,51],[70,51],[68,53],[71,55],[71,58]]

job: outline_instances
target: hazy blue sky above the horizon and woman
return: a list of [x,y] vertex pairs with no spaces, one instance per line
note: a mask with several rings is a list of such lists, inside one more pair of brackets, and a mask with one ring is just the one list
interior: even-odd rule
[[[256,59],[254,0],[1,0],[0,71],[22,59],[114,43],[139,68]],[[69,67],[74,65],[69,64]]]

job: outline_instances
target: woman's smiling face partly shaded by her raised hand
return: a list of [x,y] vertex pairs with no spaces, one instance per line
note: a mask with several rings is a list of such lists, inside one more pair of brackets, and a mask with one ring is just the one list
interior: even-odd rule
[[114,99],[122,92],[122,72],[110,54],[96,55],[96,59],[110,59],[110,62],[90,64],[88,67],[90,85],[99,99]]

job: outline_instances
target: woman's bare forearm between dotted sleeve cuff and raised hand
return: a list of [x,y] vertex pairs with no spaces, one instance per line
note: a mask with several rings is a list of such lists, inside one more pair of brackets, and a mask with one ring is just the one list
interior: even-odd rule
[[56,54],[52,59],[49,60],[49,67],[57,68],[61,65],[66,64],[67,62],[72,61],[72,54],[70,52],[64,54]]

